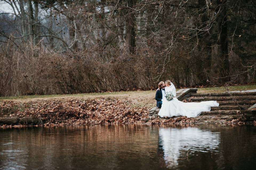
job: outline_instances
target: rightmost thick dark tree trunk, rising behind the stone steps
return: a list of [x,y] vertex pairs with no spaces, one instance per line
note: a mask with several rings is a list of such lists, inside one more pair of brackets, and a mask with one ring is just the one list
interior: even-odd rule
[[[229,54],[228,54],[228,38],[227,38],[227,10],[226,10],[226,0],[218,0],[217,3],[219,8],[219,16],[217,18],[217,27],[218,27],[218,57],[222,60],[220,63],[220,82],[226,83],[229,81]],[[217,12],[218,12],[217,11]]]

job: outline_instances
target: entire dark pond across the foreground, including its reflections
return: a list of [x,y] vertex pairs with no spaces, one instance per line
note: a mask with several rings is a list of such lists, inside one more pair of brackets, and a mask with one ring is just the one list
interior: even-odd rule
[[0,129],[0,169],[254,169],[256,126]]

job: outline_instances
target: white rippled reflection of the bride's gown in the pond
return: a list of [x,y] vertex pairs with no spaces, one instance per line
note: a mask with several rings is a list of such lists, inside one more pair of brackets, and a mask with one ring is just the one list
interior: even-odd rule
[[160,128],[159,147],[168,168],[197,152],[218,152],[220,133],[199,128]]

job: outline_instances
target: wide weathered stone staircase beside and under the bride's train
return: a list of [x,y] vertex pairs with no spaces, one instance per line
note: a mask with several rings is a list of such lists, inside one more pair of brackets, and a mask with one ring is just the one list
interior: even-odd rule
[[[211,111],[202,112],[195,117],[197,121],[231,120],[241,118],[245,121],[256,120],[256,90],[233,91],[223,93],[196,93],[197,89],[181,89],[177,91],[177,98],[185,102],[201,102],[216,100],[219,107],[211,107]],[[149,111],[149,118],[157,118],[158,107]]]

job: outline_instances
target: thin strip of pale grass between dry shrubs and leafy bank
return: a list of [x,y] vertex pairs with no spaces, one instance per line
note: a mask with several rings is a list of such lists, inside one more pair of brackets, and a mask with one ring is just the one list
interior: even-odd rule
[[[203,87],[198,88],[197,93],[214,93],[226,91],[241,91],[256,89],[256,84],[236,85],[229,87]],[[177,91],[179,89],[176,89]],[[83,98],[83,97],[132,97],[132,96],[154,96],[155,90],[149,91],[121,91],[121,92],[103,92],[103,93],[83,93],[83,94],[66,94],[66,95],[30,95],[30,96],[9,96],[0,97],[0,100],[16,100],[16,99],[33,99],[33,98]]]

